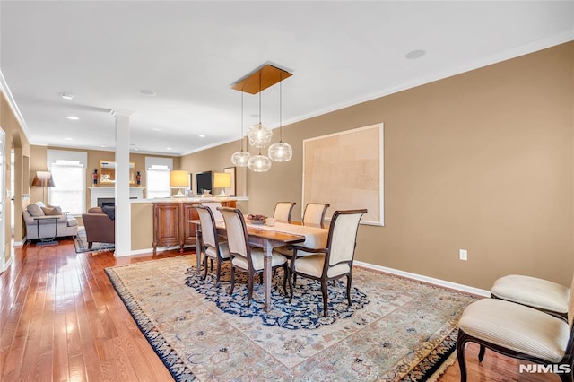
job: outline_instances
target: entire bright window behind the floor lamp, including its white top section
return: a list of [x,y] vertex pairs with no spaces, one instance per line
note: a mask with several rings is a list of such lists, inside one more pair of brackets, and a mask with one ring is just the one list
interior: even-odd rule
[[48,171],[54,187],[48,187],[48,204],[58,205],[62,211],[80,215],[86,211],[86,152],[48,150]]

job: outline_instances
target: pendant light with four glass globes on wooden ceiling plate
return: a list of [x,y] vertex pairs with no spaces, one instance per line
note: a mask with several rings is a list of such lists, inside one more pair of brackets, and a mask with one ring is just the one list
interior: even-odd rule
[[[281,82],[290,77],[289,72],[279,69],[274,65],[265,64],[258,67],[254,72],[243,77],[241,80],[233,85],[233,89],[241,91],[241,140],[239,152],[231,155],[231,162],[238,167],[248,167],[254,172],[266,172],[271,169],[273,161],[290,161],[293,155],[291,146],[288,143],[283,143],[282,135],[282,108],[283,108],[283,91]],[[272,144],[268,149],[268,155],[265,156],[261,153],[271,143],[273,132],[270,128],[261,122],[261,91],[273,86],[279,82],[279,142]],[[250,94],[259,93],[259,123],[249,126],[248,128],[248,142],[249,144],[258,149],[257,155],[250,155],[249,152],[243,151],[243,93]]]

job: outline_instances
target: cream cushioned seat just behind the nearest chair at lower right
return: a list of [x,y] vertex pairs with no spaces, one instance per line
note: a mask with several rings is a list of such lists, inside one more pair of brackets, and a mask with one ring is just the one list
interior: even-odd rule
[[568,319],[570,288],[557,282],[522,274],[509,274],[492,284],[491,298],[516,302]]

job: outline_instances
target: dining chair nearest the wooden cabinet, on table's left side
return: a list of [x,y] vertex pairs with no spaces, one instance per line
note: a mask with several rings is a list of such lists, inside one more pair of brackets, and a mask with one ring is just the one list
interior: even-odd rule
[[[205,267],[204,278],[207,277],[207,259],[209,258],[212,261],[212,270],[213,260],[217,265],[217,279],[215,280],[217,285],[222,272],[222,262],[230,260],[230,249],[227,242],[222,240],[217,234],[213,211],[205,205],[197,205],[196,210],[201,224],[201,249],[204,252]],[[201,253],[198,253],[197,256],[201,256]]]

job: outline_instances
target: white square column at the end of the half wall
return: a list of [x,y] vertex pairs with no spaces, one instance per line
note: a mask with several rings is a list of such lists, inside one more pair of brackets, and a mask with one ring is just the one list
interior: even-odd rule
[[116,117],[116,253],[132,251],[131,204],[129,202],[129,116],[131,111],[112,109]]

